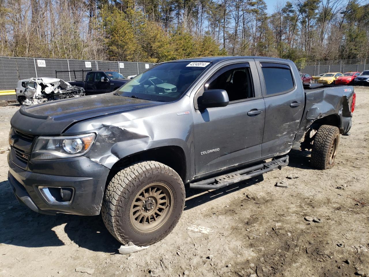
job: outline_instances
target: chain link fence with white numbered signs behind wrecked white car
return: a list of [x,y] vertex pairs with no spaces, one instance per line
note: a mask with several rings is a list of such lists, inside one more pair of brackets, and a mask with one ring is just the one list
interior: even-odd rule
[[[64,81],[82,81],[86,71],[111,70],[127,77],[137,75],[155,64],[144,62],[111,62],[75,59],[0,57],[0,90],[15,89],[18,80],[51,77]],[[79,71],[58,72],[57,71]],[[82,72],[83,70],[83,72]]]

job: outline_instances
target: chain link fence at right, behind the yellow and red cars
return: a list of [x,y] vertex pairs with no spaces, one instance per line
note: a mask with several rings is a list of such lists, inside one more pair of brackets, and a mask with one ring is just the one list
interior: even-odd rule
[[362,72],[369,70],[369,58],[341,59],[334,61],[297,62],[301,73],[318,76],[328,72]]

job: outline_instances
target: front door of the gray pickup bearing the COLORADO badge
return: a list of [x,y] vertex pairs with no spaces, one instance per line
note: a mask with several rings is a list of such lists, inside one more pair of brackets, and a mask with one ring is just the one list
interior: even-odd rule
[[230,103],[194,112],[196,174],[260,158],[265,103],[255,62],[220,68],[198,93],[206,89],[226,90]]

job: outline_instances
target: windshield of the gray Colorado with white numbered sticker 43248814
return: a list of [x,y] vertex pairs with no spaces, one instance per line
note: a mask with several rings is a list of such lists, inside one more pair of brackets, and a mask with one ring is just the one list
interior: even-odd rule
[[125,83],[116,94],[159,102],[179,99],[210,62],[167,62]]

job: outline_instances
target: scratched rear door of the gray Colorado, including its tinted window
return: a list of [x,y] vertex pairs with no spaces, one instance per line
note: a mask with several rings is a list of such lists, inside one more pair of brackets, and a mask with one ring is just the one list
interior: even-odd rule
[[262,156],[290,150],[304,111],[304,90],[289,64],[257,59],[265,100]]

